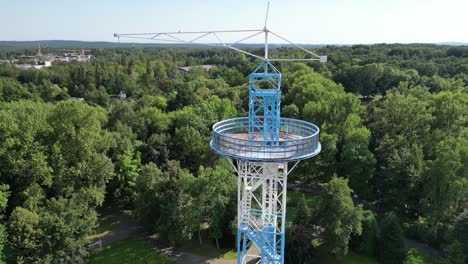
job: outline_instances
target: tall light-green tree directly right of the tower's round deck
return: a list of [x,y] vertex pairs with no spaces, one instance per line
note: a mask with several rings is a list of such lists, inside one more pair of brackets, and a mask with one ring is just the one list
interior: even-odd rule
[[[353,185],[356,182],[364,185],[372,177],[375,161],[368,149],[370,134],[362,127],[363,108],[358,98],[301,64],[286,68],[284,75],[288,86],[286,113],[313,122],[321,129],[321,154],[299,166],[302,180],[329,181],[340,172],[337,168],[343,160],[344,168],[351,164],[353,167],[342,170],[340,176],[349,177]],[[358,187],[359,195],[366,195],[358,184],[353,187]]]

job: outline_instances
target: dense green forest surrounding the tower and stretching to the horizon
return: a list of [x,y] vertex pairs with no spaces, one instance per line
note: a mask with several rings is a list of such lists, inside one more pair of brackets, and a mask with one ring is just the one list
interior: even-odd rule
[[[287,263],[350,252],[416,263],[406,239],[468,263],[468,47],[314,51],[329,62],[275,64],[282,115],[317,124],[322,144],[289,176],[318,194],[289,211]],[[3,48],[0,59],[34,53]],[[203,48],[90,53],[42,69],[0,63],[0,263],[86,263],[105,207],[131,210],[162,243],[233,241],[237,178],[210,150],[211,126],[247,115],[259,61]]]

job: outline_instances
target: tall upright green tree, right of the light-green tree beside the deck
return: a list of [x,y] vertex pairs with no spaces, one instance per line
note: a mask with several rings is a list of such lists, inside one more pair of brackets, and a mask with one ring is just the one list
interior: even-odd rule
[[371,131],[379,167],[376,192],[383,193],[379,203],[402,215],[420,213],[421,182],[425,170],[424,150],[429,140],[433,109],[424,100],[427,92],[392,91],[371,113]]

